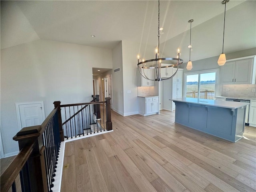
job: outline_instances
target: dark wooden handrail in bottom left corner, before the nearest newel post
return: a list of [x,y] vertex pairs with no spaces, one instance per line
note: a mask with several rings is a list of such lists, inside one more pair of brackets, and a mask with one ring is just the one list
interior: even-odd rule
[[34,143],[24,147],[1,175],[1,192],[7,192],[33,151]]

